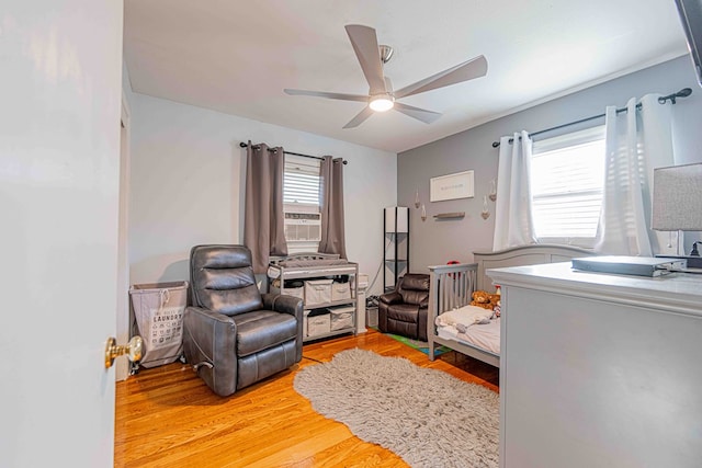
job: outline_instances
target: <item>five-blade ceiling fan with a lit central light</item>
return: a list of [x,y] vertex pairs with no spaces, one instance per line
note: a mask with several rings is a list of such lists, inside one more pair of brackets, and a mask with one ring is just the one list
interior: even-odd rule
[[355,56],[361,64],[363,75],[369,82],[369,95],[361,94],[343,94],[325,91],[306,91],[285,89],[286,94],[291,95],[312,95],[318,98],[336,99],[341,101],[365,102],[367,105],[355,117],[351,119],[343,128],[354,128],[369,118],[373,112],[385,112],[394,109],[405,115],[417,118],[426,124],[431,124],[441,117],[438,112],[427,111],[424,109],[414,107],[403,104],[396,100],[412,94],[423,93],[438,88],[468,81],[474,78],[484,77],[487,73],[487,60],[484,56],[475,57],[471,60],[458,64],[455,67],[432,75],[421,81],[417,81],[400,90],[394,91],[389,78],[383,75],[383,65],[393,56],[393,48],[386,45],[377,44],[377,36],[373,27],[360,24],[349,24],[346,26],[349,39],[355,52]]

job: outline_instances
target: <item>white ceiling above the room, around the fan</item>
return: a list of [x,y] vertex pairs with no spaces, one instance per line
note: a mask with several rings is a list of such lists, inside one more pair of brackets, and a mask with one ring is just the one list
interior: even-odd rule
[[[125,0],[135,92],[399,152],[687,53],[673,0]],[[486,77],[408,96],[342,129],[363,103],[284,88],[366,94],[344,31],[395,48],[395,89],[484,55]],[[271,141],[275,144],[275,141]]]

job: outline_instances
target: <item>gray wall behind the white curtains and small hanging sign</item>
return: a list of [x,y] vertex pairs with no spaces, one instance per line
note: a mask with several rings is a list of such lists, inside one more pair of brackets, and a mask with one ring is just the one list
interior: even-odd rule
[[[410,270],[427,272],[427,266],[449,260],[472,262],[473,251],[491,250],[495,227],[495,203],[488,201],[491,216],[480,217],[483,195],[497,176],[498,149],[492,141],[500,136],[525,129],[539,132],[564,123],[602,114],[607,105],[623,106],[632,98],[648,93],[669,94],[691,88],[692,95],[673,106],[673,139],[678,163],[702,162],[702,89],[697,83],[689,57],[657,65],[586,90],[535,105],[478,127],[398,155],[397,203],[410,209]],[[602,122],[595,121],[593,124]],[[582,127],[582,126],[581,126]],[[571,132],[578,127],[568,127]],[[563,133],[562,130],[561,133]],[[557,132],[544,137],[557,135]],[[537,138],[536,138],[537,139]],[[429,202],[429,179],[458,171],[475,171],[475,197]],[[421,221],[414,208],[419,190],[427,206],[427,220]],[[697,207],[702,209],[702,207]],[[437,220],[439,213],[465,212],[463,219]],[[689,243],[689,242],[687,242]],[[689,250],[689,249],[688,249]]]

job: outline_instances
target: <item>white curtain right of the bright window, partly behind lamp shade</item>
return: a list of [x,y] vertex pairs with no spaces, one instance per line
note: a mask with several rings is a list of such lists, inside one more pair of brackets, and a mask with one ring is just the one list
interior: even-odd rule
[[[667,232],[650,230],[653,170],[673,165],[670,105],[647,94],[636,110],[605,111],[605,179],[595,250],[616,255],[673,253]],[[677,242],[675,242],[677,244]]]

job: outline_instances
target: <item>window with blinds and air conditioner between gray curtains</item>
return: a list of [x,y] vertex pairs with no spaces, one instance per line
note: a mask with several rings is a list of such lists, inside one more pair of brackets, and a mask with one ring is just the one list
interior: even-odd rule
[[316,252],[321,235],[318,159],[285,155],[283,209],[288,253]]

